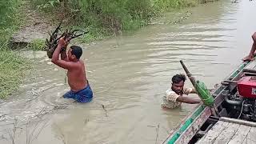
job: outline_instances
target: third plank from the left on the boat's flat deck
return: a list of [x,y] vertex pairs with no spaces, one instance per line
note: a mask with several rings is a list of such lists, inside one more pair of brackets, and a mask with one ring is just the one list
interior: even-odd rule
[[233,138],[228,144],[242,143],[250,131],[251,126],[240,125],[238,131],[234,134]]

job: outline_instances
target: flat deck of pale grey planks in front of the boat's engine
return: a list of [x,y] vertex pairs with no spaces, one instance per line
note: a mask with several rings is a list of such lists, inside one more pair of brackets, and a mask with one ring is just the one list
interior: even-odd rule
[[256,122],[233,118],[220,119],[197,144],[255,144]]

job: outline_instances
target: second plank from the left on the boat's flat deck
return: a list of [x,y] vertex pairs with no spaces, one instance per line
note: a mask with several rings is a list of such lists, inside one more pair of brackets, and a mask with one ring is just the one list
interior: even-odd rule
[[238,131],[240,125],[235,123],[229,123],[226,127],[226,130],[223,130],[221,134],[219,134],[218,138],[214,141],[214,144],[223,144],[230,142],[230,139],[234,136],[234,134]]

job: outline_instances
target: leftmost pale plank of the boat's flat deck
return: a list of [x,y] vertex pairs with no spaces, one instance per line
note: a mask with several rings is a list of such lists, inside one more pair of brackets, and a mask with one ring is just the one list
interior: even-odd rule
[[226,129],[229,122],[218,121],[207,133],[204,135],[197,144],[213,143],[218,135]]

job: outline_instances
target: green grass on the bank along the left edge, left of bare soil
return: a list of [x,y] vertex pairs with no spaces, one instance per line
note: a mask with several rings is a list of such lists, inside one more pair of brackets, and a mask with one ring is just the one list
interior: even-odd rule
[[10,50],[8,42],[11,34],[21,25],[18,7],[21,0],[0,1],[0,98],[6,98],[18,89],[28,62]]

